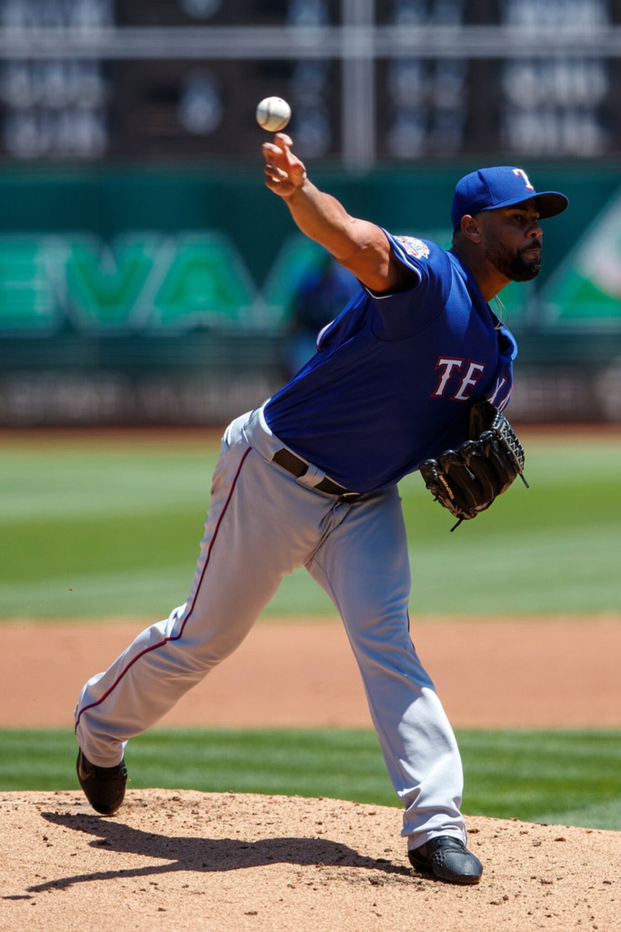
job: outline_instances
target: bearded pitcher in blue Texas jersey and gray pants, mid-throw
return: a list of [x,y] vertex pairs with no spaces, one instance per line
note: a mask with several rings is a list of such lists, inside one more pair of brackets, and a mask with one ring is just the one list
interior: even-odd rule
[[476,487],[466,517],[504,491],[493,477],[501,458],[469,432],[475,401],[502,409],[512,388],[516,343],[488,302],[537,275],[540,220],[568,201],[537,193],[518,168],[475,171],[455,187],[445,252],[351,217],[310,182],[291,145],[284,133],[263,145],[266,185],[360,290],[304,368],[224,432],[190,596],[88,680],[75,710],[77,774],[93,807],[113,815],[128,738],[235,651],[283,575],[304,566],[343,619],[412,866],[473,884],[482,867],[466,848],[459,751],[410,637],[397,484],[435,463],[449,503],[455,476]]

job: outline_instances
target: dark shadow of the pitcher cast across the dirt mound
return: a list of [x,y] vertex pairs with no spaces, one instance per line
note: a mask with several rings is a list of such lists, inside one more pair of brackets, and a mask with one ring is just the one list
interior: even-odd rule
[[412,876],[410,868],[392,864],[384,857],[364,857],[346,844],[331,842],[330,839],[263,838],[259,842],[246,842],[236,838],[184,838],[132,829],[122,822],[101,816],[51,812],[41,813],[41,816],[54,825],[94,836],[90,842],[91,846],[101,847],[111,853],[161,857],[166,863],[128,870],[98,870],[93,873],[74,874],[71,877],[47,881],[45,884],[29,886],[29,893],[49,889],[62,890],[73,884],[114,880],[118,877],[150,877],[173,873],[176,870],[240,870],[278,862],[300,866],[322,864],[366,868],[405,877]]

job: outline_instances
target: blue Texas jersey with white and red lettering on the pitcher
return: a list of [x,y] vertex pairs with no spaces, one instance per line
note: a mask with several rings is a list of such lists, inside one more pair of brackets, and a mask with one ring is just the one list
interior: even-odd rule
[[463,443],[474,398],[506,406],[517,355],[457,255],[386,236],[418,281],[396,293],[358,291],[264,412],[284,444],[357,492],[395,485]]

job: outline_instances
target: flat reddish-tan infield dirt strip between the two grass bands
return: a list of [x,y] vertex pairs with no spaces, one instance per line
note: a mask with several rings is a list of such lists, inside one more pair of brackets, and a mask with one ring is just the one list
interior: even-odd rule
[[[145,624],[3,624],[0,727],[71,726],[82,685]],[[621,727],[618,616],[414,622],[412,638],[455,726]],[[343,625],[281,621],[257,624],[161,725],[371,727],[371,719]]]

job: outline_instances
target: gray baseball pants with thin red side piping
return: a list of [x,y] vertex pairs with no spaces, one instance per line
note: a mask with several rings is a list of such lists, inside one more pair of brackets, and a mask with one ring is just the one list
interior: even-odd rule
[[128,738],[154,725],[235,651],[282,577],[304,566],[344,621],[405,806],[409,847],[439,834],[466,842],[459,750],[410,637],[398,490],[336,499],[314,490],[324,478],[317,467],[296,479],[272,463],[282,446],[262,408],[229,425],[190,596],[88,680],[75,709],[78,743],[98,766],[121,761]]

